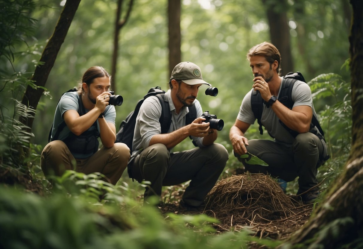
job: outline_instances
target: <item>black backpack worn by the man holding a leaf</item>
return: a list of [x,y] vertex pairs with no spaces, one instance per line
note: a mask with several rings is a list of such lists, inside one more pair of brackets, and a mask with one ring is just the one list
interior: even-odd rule
[[[296,73],[290,72],[284,76],[284,81],[282,81],[281,92],[279,94],[278,101],[280,101],[284,106],[288,107],[289,109],[292,109],[292,107],[294,105],[294,102],[291,99],[291,93],[293,90],[294,83],[298,80],[306,83],[303,75],[300,72],[296,72]],[[260,130],[261,135],[263,134],[261,116],[262,116],[262,107],[264,105],[264,102],[265,101],[262,99],[259,91],[252,91],[252,95],[251,95],[252,111],[253,111],[254,116],[257,118],[257,123],[259,125],[258,129]],[[294,138],[298,135],[297,131],[291,130],[284,123],[282,123],[281,120],[280,120],[280,123],[282,126],[284,126],[284,128],[287,131],[290,132],[290,134]],[[318,138],[324,139],[324,141],[325,141],[324,131],[321,128],[318,118],[315,115],[313,115],[313,118],[311,119],[309,132],[317,135]]]

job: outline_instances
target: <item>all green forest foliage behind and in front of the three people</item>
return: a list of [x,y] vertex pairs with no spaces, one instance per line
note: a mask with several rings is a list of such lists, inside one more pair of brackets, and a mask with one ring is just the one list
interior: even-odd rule
[[[116,1],[95,0],[91,5],[81,1],[49,76],[46,98],[37,107],[35,137],[25,132],[26,127],[17,121],[20,115],[26,116],[35,110],[27,109],[19,101],[26,87],[34,87],[29,78],[39,63],[46,40],[52,35],[64,1],[58,1],[57,5],[54,1],[42,0],[52,8],[38,8],[34,3],[3,0],[0,7],[0,162],[1,166],[21,173],[28,174],[30,170],[34,181],[47,186],[39,166],[39,154],[47,142],[56,102],[61,93],[76,85],[90,66],[110,69]],[[342,35],[347,31],[343,8],[330,0],[288,3],[295,67],[306,79],[322,73],[309,85],[332,156],[318,169],[319,180],[327,179],[323,183],[326,188],[342,171],[351,141],[350,86],[344,80],[347,72],[339,72],[341,62],[348,57],[347,36]],[[299,7],[303,12],[298,11]],[[117,108],[116,126],[134,109],[137,99],[147,89],[156,85],[167,89],[165,9],[165,1],[136,1],[129,22],[121,30],[117,94],[123,95],[125,101]],[[241,166],[233,155],[228,132],[242,98],[252,86],[253,77],[245,54],[253,45],[269,40],[264,7],[252,0],[244,0],[242,4],[183,1],[181,30],[182,60],[200,65],[203,78],[219,88],[215,98],[205,96],[201,89],[198,99],[205,110],[225,122],[217,140],[230,152],[226,171],[221,175],[225,177],[231,169]],[[306,31],[305,40],[299,30]],[[50,94],[55,96],[55,101],[49,98]],[[261,138],[257,125],[251,126],[247,135],[249,139]],[[30,153],[24,160],[25,155],[20,152],[29,146]],[[174,150],[191,146],[186,139]],[[0,247],[233,249],[247,248],[250,241],[270,248],[279,243],[250,237],[248,229],[217,235],[213,233],[213,224],[217,221],[207,216],[170,214],[163,217],[152,207],[140,207],[142,185],[131,182],[126,175],[117,186],[105,183],[101,177],[69,171],[53,179],[53,189],[47,189],[53,192],[46,197],[1,188]],[[296,190],[297,181],[289,183],[288,191]],[[166,201],[176,201],[173,193],[166,195]],[[362,241],[356,243],[361,245]]]

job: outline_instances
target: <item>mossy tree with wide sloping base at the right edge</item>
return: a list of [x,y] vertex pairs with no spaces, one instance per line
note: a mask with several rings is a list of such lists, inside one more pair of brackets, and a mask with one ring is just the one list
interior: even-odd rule
[[[363,241],[363,1],[350,0],[352,147],[343,174],[326,193],[309,222],[293,237],[293,244],[309,248],[361,248]],[[311,242],[313,241],[313,242]],[[306,247],[307,248],[307,247]]]

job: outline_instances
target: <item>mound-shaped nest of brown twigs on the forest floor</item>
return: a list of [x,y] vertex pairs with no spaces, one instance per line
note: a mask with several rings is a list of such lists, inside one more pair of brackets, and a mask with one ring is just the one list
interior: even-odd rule
[[289,237],[306,223],[313,208],[287,196],[270,176],[249,173],[219,181],[205,203],[203,213],[219,220],[214,224],[217,231],[248,228],[255,236],[273,239]]

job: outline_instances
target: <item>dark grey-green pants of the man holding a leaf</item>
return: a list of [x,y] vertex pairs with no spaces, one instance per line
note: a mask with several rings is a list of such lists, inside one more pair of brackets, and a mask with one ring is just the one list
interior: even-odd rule
[[247,151],[264,160],[269,166],[248,164],[235,154],[251,173],[270,174],[287,182],[299,177],[298,194],[318,184],[316,175],[319,156],[323,153],[322,141],[310,132],[296,136],[291,147],[266,139],[248,141]]

